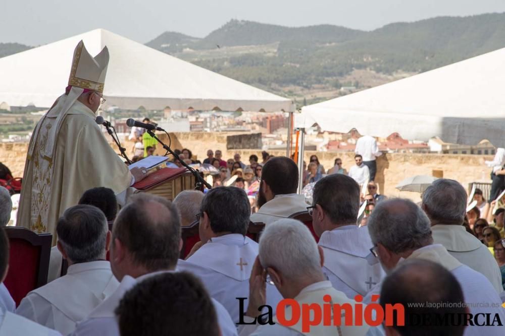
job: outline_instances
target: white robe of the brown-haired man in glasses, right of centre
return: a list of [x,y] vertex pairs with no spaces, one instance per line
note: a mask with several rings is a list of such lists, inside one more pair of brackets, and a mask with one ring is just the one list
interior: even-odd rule
[[373,244],[366,227],[345,225],[325,231],[318,245],[325,256],[323,272],[333,287],[350,299],[358,294],[365,296],[385,277],[370,252]]

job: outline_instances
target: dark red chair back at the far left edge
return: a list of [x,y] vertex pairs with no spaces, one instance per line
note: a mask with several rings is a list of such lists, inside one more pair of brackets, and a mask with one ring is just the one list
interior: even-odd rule
[[10,239],[9,243],[9,272],[4,284],[18,306],[36,288],[41,247],[23,239]]

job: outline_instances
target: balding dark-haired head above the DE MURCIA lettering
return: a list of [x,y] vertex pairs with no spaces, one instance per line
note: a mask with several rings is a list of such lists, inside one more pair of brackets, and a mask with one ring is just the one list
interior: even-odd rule
[[[452,303],[450,307],[412,307],[411,303]],[[440,264],[428,260],[412,259],[401,262],[384,280],[380,293],[380,304],[402,304],[405,308],[405,326],[392,328],[400,335],[463,335],[463,325],[436,323],[437,316],[463,314],[466,308],[458,308],[464,301],[463,291],[456,278]],[[409,306],[410,305],[410,306]],[[432,305],[434,306],[434,305]],[[419,318],[429,316],[431,323],[416,323]],[[424,321],[424,319],[423,319]]]

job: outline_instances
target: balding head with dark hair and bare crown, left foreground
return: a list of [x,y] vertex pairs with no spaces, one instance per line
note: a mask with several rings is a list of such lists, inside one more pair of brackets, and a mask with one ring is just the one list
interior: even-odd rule
[[180,217],[167,199],[140,193],[118,214],[113,242],[118,239],[133,260],[149,272],[172,270],[179,257]]

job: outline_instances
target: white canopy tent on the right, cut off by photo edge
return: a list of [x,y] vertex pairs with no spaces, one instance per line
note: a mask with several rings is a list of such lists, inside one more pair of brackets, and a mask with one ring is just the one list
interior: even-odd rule
[[300,128],[505,147],[505,48],[322,103],[295,115]]

